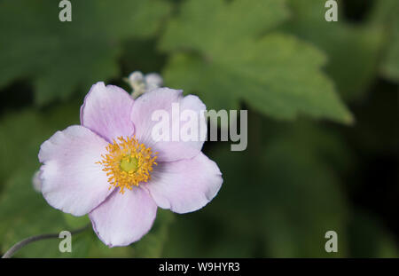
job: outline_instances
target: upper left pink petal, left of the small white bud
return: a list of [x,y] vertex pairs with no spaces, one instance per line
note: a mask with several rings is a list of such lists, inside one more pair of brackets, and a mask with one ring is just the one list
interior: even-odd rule
[[113,85],[96,83],[91,86],[81,107],[81,124],[108,142],[134,133],[130,121],[133,98],[128,92]]

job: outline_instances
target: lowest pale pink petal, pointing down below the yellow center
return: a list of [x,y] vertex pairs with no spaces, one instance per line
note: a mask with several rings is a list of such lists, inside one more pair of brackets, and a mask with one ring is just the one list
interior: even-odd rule
[[123,194],[115,190],[89,217],[98,238],[109,247],[118,247],[140,240],[151,229],[156,213],[150,194],[133,187]]

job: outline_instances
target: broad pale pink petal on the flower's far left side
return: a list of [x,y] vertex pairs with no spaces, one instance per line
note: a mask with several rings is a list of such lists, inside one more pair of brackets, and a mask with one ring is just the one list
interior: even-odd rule
[[57,131],[40,146],[42,193],[56,209],[82,216],[106,199],[110,185],[96,162],[108,143],[80,125]]

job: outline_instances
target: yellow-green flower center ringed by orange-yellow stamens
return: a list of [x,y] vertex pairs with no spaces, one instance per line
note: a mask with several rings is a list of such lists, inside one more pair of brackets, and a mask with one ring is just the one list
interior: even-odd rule
[[102,154],[102,160],[97,162],[104,166],[108,176],[108,182],[112,187],[120,187],[120,193],[124,189],[131,190],[132,186],[146,183],[151,179],[150,171],[153,165],[157,165],[151,147],[139,144],[137,138],[117,138],[106,146],[107,154]]

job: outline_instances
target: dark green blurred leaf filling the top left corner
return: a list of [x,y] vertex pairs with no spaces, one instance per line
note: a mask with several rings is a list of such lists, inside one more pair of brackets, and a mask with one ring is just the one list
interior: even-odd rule
[[154,35],[170,10],[160,0],[72,1],[72,21],[60,22],[58,5],[0,3],[0,86],[28,77],[39,105],[118,75],[121,43]]

